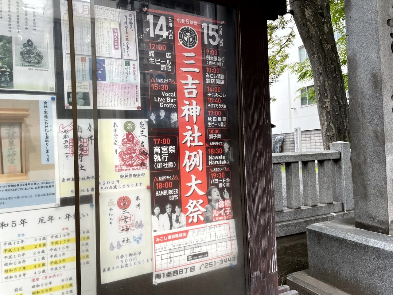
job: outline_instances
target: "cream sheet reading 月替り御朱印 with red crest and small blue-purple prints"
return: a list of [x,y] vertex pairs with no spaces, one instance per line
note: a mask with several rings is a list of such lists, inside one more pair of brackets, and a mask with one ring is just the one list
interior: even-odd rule
[[150,208],[146,187],[100,193],[102,284],[153,271]]

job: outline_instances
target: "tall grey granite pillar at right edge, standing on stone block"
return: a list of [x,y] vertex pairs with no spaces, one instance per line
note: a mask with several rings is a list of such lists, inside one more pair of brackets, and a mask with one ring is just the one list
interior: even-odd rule
[[345,0],[355,227],[383,234],[393,234],[392,18],[391,1]]

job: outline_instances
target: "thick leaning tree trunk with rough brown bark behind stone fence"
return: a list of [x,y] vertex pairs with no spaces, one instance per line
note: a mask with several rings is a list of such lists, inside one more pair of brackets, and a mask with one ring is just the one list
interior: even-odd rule
[[323,147],[349,142],[349,108],[329,0],[291,0],[290,8],[312,67]]

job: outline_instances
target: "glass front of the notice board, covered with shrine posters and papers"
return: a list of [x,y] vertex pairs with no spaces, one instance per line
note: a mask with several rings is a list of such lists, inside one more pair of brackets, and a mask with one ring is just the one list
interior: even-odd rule
[[246,293],[236,28],[202,1],[0,0],[5,294]]

